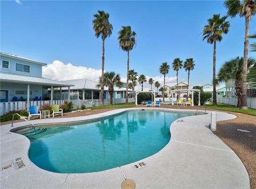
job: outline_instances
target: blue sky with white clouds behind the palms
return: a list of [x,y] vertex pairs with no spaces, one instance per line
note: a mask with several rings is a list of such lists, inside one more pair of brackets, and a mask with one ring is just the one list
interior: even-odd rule
[[[118,31],[130,25],[137,44],[130,51],[130,68],[163,84],[159,66],[193,58],[190,86],[212,83],[213,45],[203,41],[202,31],[213,14],[227,14],[223,1],[1,1],[1,51],[47,63],[43,76],[53,80],[101,75],[102,40],[92,29],[93,14],[109,13],[112,35],[105,41],[105,71],[115,71],[126,81],[127,53],[119,48]],[[230,21],[227,35],[217,42],[217,73],[231,58],[243,56],[245,19]],[[255,16],[250,33],[256,31]],[[249,53],[249,57],[255,53]],[[188,73],[179,71],[179,82]],[[166,83],[174,85],[170,69]],[[149,84],[144,84],[149,89]],[[140,86],[137,86],[139,89]],[[154,88],[154,87],[153,87]]]

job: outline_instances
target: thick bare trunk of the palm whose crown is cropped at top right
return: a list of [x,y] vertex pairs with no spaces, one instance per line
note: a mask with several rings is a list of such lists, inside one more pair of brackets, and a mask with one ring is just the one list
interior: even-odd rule
[[243,85],[242,85],[242,98],[241,98],[241,109],[248,109],[247,107],[247,85],[246,85],[246,74],[247,74],[247,61],[248,61],[248,37],[249,36],[249,16],[245,16],[245,38],[244,38],[244,62],[243,62]]

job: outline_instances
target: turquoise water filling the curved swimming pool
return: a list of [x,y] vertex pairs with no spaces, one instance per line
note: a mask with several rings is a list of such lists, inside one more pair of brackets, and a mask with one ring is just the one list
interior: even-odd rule
[[45,127],[29,136],[29,158],[57,173],[90,173],[149,157],[170,141],[175,119],[193,114],[135,110],[92,123]]

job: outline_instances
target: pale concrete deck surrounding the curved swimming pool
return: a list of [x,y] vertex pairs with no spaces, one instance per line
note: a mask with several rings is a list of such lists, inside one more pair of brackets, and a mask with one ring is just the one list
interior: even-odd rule
[[[90,116],[36,119],[33,124],[74,122],[105,117],[125,110],[107,111]],[[185,109],[147,108],[172,111]],[[212,111],[206,111],[211,113]],[[214,111],[217,121],[234,119],[236,116]],[[237,155],[209,129],[210,114],[183,117],[171,125],[171,140],[158,153],[122,166],[127,178],[133,179],[136,188],[250,188],[249,175]],[[18,122],[15,127],[28,125]],[[11,125],[1,126],[2,188],[121,188],[124,176],[119,167],[85,174],[59,174],[38,168],[28,158],[30,141],[26,136],[11,133]],[[14,159],[22,157],[26,166],[17,170]],[[135,169],[132,165],[145,162],[146,166]]]

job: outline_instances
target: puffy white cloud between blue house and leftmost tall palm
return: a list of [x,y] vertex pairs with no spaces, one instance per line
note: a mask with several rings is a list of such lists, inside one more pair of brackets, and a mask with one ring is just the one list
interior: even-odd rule
[[95,70],[91,67],[75,66],[73,64],[64,64],[60,61],[53,61],[52,64],[43,66],[43,77],[57,80],[74,80],[74,79],[89,79],[98,82],[101,76],[101,70]]

